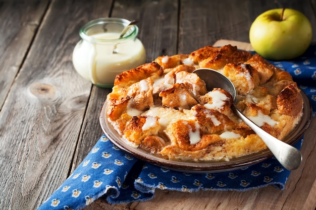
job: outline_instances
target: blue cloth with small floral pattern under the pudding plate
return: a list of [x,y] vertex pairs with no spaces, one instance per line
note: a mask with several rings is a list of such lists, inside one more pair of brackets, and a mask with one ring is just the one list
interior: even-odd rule
[[[270,61],[288,71],[316,110],[316,45],[291,61]],[[295,144],[300,149],[303,139]],[[221,173],[183,173],[144,163],[114,146],[102,135],[78,168],[42,203],[42,209],[82,209],[99,197],[109,203],[149,200],[155,189],[244,191],[273,185],[284,189],[290,171],[275,158]]]

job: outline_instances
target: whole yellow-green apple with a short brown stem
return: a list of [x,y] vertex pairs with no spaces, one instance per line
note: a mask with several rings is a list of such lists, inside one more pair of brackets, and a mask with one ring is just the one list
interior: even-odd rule
[[293,9],[274,9],[259,15],[251,24],[249,39],[262,57],[288,60],[303,54],[312,39],[309,20]]

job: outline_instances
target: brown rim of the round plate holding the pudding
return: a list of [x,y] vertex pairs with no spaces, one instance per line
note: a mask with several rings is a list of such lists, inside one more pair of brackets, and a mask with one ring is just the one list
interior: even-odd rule
[[[301,139],[311,121],[312,110],[310,102],[303,91],[301,91],[301,94],[304,101],[303,116],[300,122],[294,128],[294,130],[292,130],[284,140],[284,142],[289,145],[294,145]],[[112,124],[108,121],[107,101],[104,102],[101,108],[99,120],[104,134],[106,134],[110,141],[118,148],[142,161],[157,166],[165,167],[170,170],[188,173],[218,173],[244,168],[246,166],[250,166],[273,157],[273,154],[270,152],[270,150],[267,149],[240,158],[235,158],[230,161],[207,161],[196,163],[166,160],[157,157],[153,154],[150,154],[142,149],[131,147],[127,143],[127,140],[122,138],[122,136],[114,129]]]

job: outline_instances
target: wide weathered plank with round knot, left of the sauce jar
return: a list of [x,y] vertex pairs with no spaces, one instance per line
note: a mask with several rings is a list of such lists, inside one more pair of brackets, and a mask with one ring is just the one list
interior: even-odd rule
[[91,91],[74,71],[72,51],[83,23],[111,4],[49,6],[0,112],[1,209],[35,209],[67,178]]

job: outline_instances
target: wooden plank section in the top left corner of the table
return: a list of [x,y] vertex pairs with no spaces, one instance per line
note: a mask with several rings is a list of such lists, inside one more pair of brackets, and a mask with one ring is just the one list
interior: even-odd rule
[[48,2],[0,4],[0,110],[19,72]]

